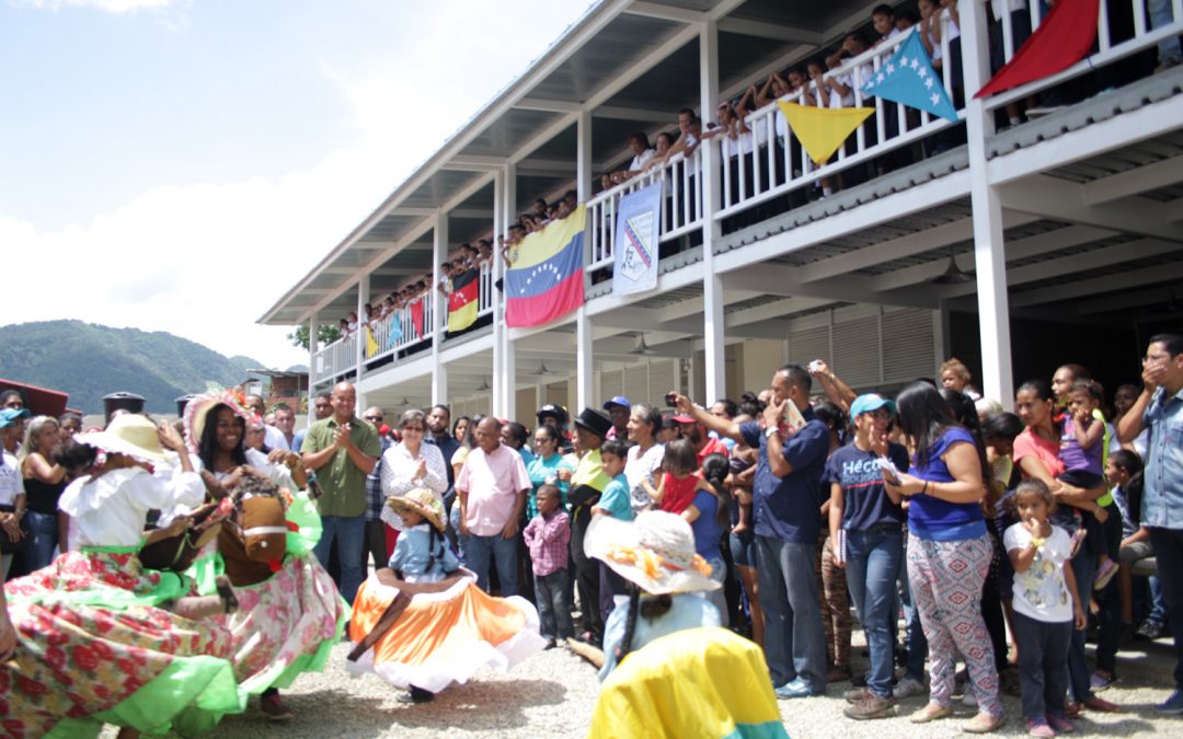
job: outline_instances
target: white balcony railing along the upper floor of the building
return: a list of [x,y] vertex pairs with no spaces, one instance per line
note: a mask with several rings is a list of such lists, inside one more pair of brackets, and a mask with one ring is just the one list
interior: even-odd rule
[[[1043,20],[1041,5],[1041,2],[1028,2],[1029,9],[1016,11],[1015,17],[1019,13],[1029,14],[1030,27],[1035,30]],[[1183,34],[1183,0],[1169,0],[1166,11],[1168,13],[1163,14],[1159,9],[1158,15],[1152,18],[1146,9],[1145,0],[1101,0],[1095,51],[1062,72],[989,97],[985,108],[996,110],[1008,103],[1023,101],[1074,77],[1105,69],[1123,58],[1152,48],[1159,43],[1177,44],[1176,37]],[[989,13],[987,8],[988,17]],[[995,33],[993,43],[998,44],[1001,40],[1003,61],[1009,61],[1014,57],[1017,46],[1010,18],[1008,15],[1003,22],[993,28]],[[1113,18],[1124,20],[1114,27],[1114,24],[1111,24]],[[1132,27],[1125,22],[1131,19]],[[946,13],[942,19],[944,32],[940,34],[940,57],[944,60],[951,60],[957,52],[950,47],[950,22]],[[982,32],[984,34],[990,30],[983,28]],[[757,215],[743,222],[769,218],[777,212],[776,208],[768,207],[770,203],[780,203],[777,207],[787,208],[791,203],[786,196],[796,197],[797,203],[803,202],[801,194],[823,179],[836,177],[843,171],[851,173],[852,168],[866,167],[873,161],[881,161],[880,157],[888,158],[897,151],[918,149],[917,144],[923,143],[929,154],[933,151],[933,143],[948,145],[949,140],[943,140],[942,135],[948,135],[945,130],[958,123],[885,102],[879,97],[868,98],[862,93],[862,85],[870,76],[875,74],[906,39],[906,33],[900,34],[826,73],[826,77],[849,76],[853,80],[854,105],[875,109],[874,116],[859,127],[828,162],[819,166],[810,160],[774,102],[748,115],[745,123],[749,132],[741,137],[732,140],[718,136],[705,140],[690,157],[677,155],[662,167],[655,167],[592,197],[587,202],[586,271],[594,273],[610,270],[615,259],[614,225],[620,200],[653,183],[662,183],[664,205],[659,234],[660,241],[665,244],[698,231],[704,226],[706,218],[719,221],[724,231],[733,227],[735,216],[744,213]],[[956,104],[964,96],[959,90],[962,85],[955,85],[953,67],[955,64],[946,61],[939,73],[945,92]],[[806,95],[800,93],[787,99],[803,103]],[[958,108],[957,114],[958,118],[963,119],[964,108]],[[712,205],[706,202],[703,188],[704,161],[707,156],[715,157],[716,164],[715,190],[718,201],[713,209]],[[487,316],[493,311],[493,300],[502,299],[500,293],[493,287],[493,275],[487,262],[481,265],[479,279],[478,316]],[[396,361],[414,354],[419,348],[426,348],[435,333],[446,328],[447,312],[444,311],[442,316],[437,317],[433,315],[432,297],[425,296],[419,300],[422,303],[422,336],[415,326],[416,311],[411,307],[376,322],[373,335],[377,348],[370,351],[368,349],[373,348],[362,346],[363,371],[387,357],[394,357]],[[393,329],[395,322],[399,324],[397,329]],[[316,352],[312,382],[324,382],[355,372],[358,341],[364,341],[364,333],[345,337]]]

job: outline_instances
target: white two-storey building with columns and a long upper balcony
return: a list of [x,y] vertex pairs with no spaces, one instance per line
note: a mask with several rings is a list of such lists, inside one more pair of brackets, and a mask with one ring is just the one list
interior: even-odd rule
[[[720,101],[851,32],[874,41],[874,5],[599,2],[260,322],[311,324],[313,390],[350,378],[361,403],[390,411],[446,402],[453,415],[530,419],[545,402],[660,402],[670,388],[710,402],[814,358],[856,389],[891,390],[957,356],[1004,401],[1064,362],[1092,368],[1110,390],[1136,381],[1146,337],[1178,330],[1183,316],[1183,66],[1156,70],[1159,45],[1177,53],[1181,0],[1101,0],[1091,56],[984,99],[972,92],[991,77],[991,44],[1009,59],[1013,32],[991,30],[990,2],[962,0],[959,39],[946,17],[940,41],[944,59],[959,44],[961,74],[953,64],[940,71],[957,123],[864,98],[855,84],[854,104],[875,114],[825,166],[784,136],[769,104],[749,115],[749,138],[711,138],[601,190],[600,175],[629,161],[631,132],[677,135],[680,109],[711,122]],[[1037,28],[1042,4],[1020,5]],[[904,39],[828,74],[860,82]],[[1045,115],[996,130],[1008,104]],[[821,197],[822,179],[846,187]],[[658,286],[614,294],[605,278],[616,206],[654,181],[673,203]],[[529,203],[569,189],[588,207],[577,311],[506,328],[496,259],[479,285],[489,318],[472,330],[446,336],[432,291],[422,337],[406,310],[393,318],[401,331],[390,319],[374,328],[376,350],[356,337],[315,343],[318,325],[426,273],[438,281],[459,244],[496,240]]]

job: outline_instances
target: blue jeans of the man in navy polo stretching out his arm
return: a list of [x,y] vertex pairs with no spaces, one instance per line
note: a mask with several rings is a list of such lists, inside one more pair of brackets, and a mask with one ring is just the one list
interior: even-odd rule
[[816,544],[756,537],[764,655],[772,683],[800,678],[815,694],[826,691],[826,636],[814,577]]

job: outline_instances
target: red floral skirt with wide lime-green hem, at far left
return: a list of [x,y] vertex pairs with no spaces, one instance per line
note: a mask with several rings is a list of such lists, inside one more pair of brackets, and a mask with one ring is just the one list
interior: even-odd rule
[[0,734],[190,733],[240,712],[226,628],[157,608],[188,589],[128,550],[66,552],[7,583],[18,644],[0,665]]

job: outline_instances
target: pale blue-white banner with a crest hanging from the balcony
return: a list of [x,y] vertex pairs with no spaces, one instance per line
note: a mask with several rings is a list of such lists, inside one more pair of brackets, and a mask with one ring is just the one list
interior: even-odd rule
[[623,296],[658,286],[660,225],[660,181],[620,199],[613,240],[616,258],[612,273],[614,293]]

